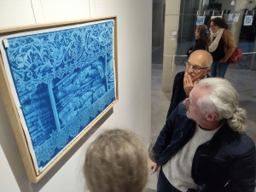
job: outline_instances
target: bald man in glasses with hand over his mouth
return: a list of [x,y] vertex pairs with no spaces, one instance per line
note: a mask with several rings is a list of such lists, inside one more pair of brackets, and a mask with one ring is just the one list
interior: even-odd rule
[[189,96],[190,91],[200,79],[209,78],[211,72],[212,55],[206,50],[195,50],[189,60],[185,62],[186,70],[177,73],[172,86],[172,99],[166,116],[172,113],[179,102]]

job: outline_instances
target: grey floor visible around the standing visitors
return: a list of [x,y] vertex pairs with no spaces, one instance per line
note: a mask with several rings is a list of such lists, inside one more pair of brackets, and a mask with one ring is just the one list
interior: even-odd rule
[[[165,124],[166,113],[170,105],[172,94],[165,94],[161,90],[162,84],[161,64],[152,65],[152,91],[151,91],[151,139],[155,142],[160,130]],[[183,66],[176,66],[176,72],[183,71]],[[247,110],[247,135],[256,143],[256,71],[228,68],[225,79],[234,84],[240,95],[240,107]],[[154,192],[157,176],[151,174],[148,178],[146,192]]]

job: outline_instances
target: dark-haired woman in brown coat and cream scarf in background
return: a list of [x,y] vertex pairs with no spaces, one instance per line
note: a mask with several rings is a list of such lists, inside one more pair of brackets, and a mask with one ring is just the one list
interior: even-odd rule
[[209,20],[210,38],[208,50],[212,54],[211,77],[224,78],[229,58],[236,49],[236,40],[226,22],[216,17]]

